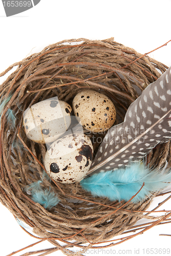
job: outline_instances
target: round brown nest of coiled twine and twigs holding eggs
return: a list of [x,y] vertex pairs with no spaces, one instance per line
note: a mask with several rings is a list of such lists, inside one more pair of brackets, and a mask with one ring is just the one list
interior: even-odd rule
[[[142,57],[113,38],[58,42],[14,63],[1,76],[13,67],[16,70],[1,85],[0,91],[1,103],[11,97],[1,115],[1,203],[15,218],[33,227],[38,237],[49,239],[65,253],[70,253],[64,251],[65,247],[108,241],[132,227],[143,218],[142,211],[152,198],[138,204],[111,203],[105,198],[92,197],[79,183],[61,184],[44,179],[44,188],[50,187],[57,193],[60,202],[47,210],[31,200],[24,188],[42,178],[47,148],[45,144],[27,139],[22,126],[23,112],[32,104],[54,96],[72,105],[74,96],[89,88],[111,98],[117,111],[115,124],[118,124],[123,121],[129,105],[168,67],[148,56]],[[14,131],[8,122],[8,109],[15,113]],[[103,138],[104,135],[96,136]],[[97,140],[93,146],[96,153]],[[152,165],[164,163],[169,147],[168,142],[149,154]],[[55,239],[66,242],[67,246],[59,245]]]

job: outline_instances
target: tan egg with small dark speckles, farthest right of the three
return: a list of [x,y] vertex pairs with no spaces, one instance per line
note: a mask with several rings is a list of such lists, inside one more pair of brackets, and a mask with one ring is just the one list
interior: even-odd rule
[[83,90],[73,99],[73,112],[80,118],[83,127],[99,133],[108,130],[115,122],[115,106],[108,96],[93,91]]

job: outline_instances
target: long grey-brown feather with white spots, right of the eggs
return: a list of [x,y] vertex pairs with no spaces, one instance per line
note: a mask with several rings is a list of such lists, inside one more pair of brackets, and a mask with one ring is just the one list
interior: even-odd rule
[[[126,112],[124,122],[111,127],[104,137],[97,155],[88,174],[104,172],[118,167],[127,166],[128,163],[141,160],[158,143],[171,139],[171,67],[155,82],[142,92]],[[161,119],[166,115],[163,119]],[[151,127],[157,121],[152,129]],[[149,131],[135,143],[126,147],[139,135]],[[96,165],[122,151],[112,160],[109,159],[102,166]]]

